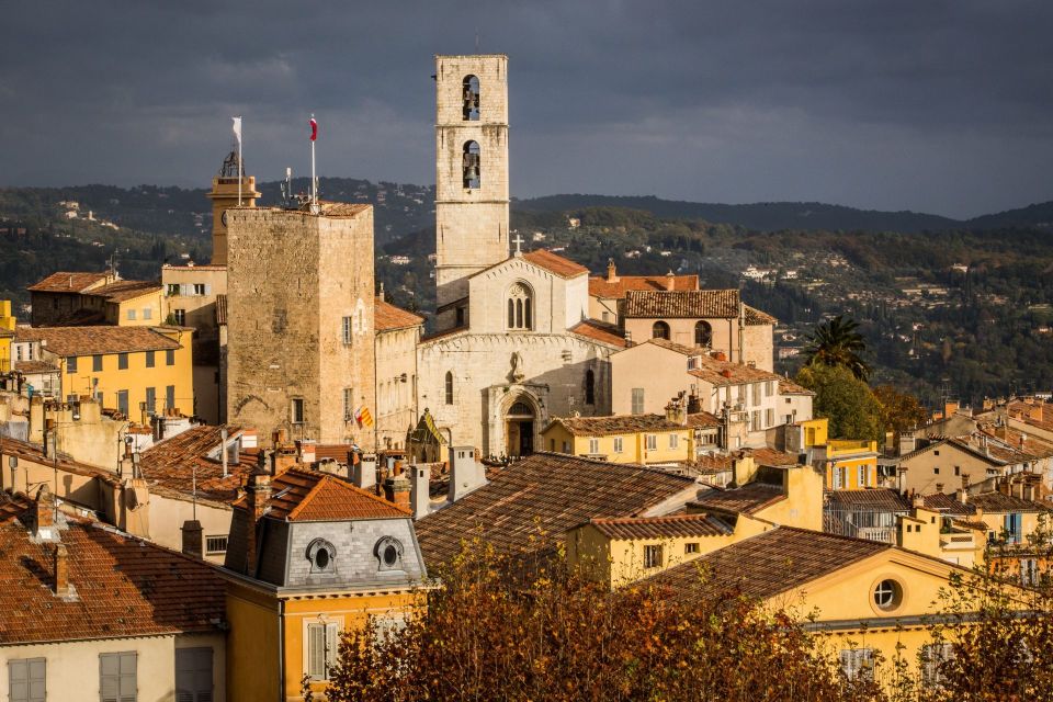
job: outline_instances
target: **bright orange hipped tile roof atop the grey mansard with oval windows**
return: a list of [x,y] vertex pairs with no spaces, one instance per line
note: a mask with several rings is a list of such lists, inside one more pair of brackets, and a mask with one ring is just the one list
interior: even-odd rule
[[[242,497],[235,506],[244,507]],[[279,520],[348,521],[352,519],[400,519],[409,510],[359,489],[329,473],[293,467],[271,478],[271,499],[265,517]]]

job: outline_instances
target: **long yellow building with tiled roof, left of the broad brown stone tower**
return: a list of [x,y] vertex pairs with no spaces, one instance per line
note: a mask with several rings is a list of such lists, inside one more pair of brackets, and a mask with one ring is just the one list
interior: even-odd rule
[[59,367],[63,397],[97,398],[126,417],[194,414],[190,329],[179,327],[20,327],[15,341]]

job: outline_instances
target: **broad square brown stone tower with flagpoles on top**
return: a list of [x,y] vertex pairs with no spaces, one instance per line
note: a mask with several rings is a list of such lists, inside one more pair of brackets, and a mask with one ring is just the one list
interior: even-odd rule
[[372,450],[373,206],[240,207],[227,220],[227,420]]

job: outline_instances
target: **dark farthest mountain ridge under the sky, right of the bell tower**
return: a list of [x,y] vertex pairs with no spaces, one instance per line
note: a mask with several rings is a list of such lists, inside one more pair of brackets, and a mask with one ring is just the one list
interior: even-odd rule
[[882,212],[857,210],[843,205],[818,202],[767,202],[745,205],[725,205],[677,200],[654,195],[584,195],[564,194],[517,200],[514,210],[524,212],[565,212],[586,207],[625,207],[644,210],[656,217],[672,219],[705,219],[713,224],[729,224],[778,231],[781,229],[825,229],[863,231],[902,231],[917,234],[944,229],[994,229],[1005,227],[1053,227],[1053,202],[1029,205],[1019,210],[974,217],[952,219],[917,212]]

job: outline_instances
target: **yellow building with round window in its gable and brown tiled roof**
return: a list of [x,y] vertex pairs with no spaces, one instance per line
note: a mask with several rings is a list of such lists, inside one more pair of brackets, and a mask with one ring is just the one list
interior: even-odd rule
[[[784,609],[823,637],[849,678],[892,682],[902,656],[908,676],[931,679],[919,655],[944,655],[932,627],[947,614],[941,590],[969,571],[919,553],[873,541],[780,526],[703,555],[650,578],[687,601],[728,592]],[[927,669],[928,668],[928,669]]]

